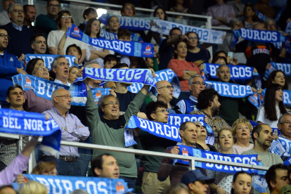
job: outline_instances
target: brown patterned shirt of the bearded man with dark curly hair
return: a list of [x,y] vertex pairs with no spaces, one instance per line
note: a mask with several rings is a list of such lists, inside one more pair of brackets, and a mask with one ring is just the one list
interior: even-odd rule
[[212,130],[213,130],[214,135],[216,137],[214,146],[215,146],[216,150],[219,150],[219,144],[217,143],[218,132],[220,131],[220,129],[224,129],[224,128],[231,129],[231,127],[226,123],[226,121],[223,118],[221,118],[219,116],[212,117],[211,115],[208,115],[207,113],[205,113],[203,110],[193,110],[189,114],[190,115],[207,115],[207,117],[209,119],[208,124],[210,127],[212,127]]

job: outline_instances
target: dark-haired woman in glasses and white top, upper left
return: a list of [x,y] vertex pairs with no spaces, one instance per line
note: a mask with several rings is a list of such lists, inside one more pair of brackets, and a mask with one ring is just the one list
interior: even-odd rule
[[[60,40],[64,36],[65,32],[67,32],[67,27],[71,27],[72,23],[74,23],[74,20],[70,11],[64,10],[58,13],[56,24],[58,25],[59,30],[53,30],[48,34],[48,51],[50,54],[58,55],[58,44],[60,43]],[[72,44],[76,44],[81,48],[82,55],[78,63],[83,63],[86,57],[86,43],[67,37],[65,46],[63,46],[63,53],[66,53],[67,47]]]

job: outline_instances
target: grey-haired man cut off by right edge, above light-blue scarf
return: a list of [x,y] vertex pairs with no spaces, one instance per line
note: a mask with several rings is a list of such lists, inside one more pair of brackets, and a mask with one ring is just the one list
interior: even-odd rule
[[[280,118],[278,119],[277,127],[279,131],[281,132],[281,134],[278,136],[280,138],[285,138],[291,141],[291,114],[290,113],[285,113],[284,115],[280,116]],[[288,159],[288,157],[282,155],[281,159],[285,161]]]

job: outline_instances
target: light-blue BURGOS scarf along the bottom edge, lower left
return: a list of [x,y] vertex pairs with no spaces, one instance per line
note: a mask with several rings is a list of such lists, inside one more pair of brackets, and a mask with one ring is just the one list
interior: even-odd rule
[[124,179],[108,179],[100,177],[77,176],[47,176],[23,174],[25,178],[38,181],[48,189],[48,194],[71,193],[73,190],[83,189],[91,194],[99,193],[129,193],[133,188],[127,188]]

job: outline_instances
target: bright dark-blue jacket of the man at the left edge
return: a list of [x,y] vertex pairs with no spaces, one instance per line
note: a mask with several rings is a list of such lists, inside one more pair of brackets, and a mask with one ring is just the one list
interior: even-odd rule
[[13,86],[11,77],[17,74],[16,68],[21,68],[18,58],[4,51],[4,58],[0,59],[0,101],[6,101],[7,89]]

